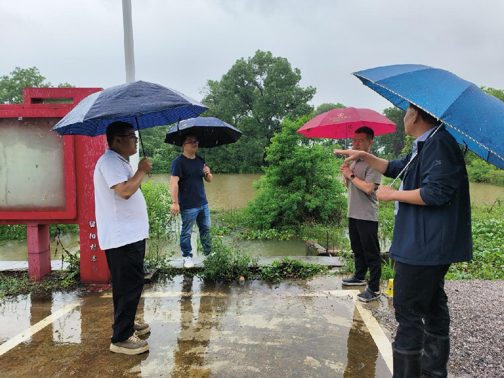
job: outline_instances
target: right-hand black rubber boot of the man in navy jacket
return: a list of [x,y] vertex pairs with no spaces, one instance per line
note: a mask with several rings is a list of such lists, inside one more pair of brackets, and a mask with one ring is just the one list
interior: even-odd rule
[[448,376],[446,365],[450,356],[450,337],[425,332],[423,340],[422,373],[444,378]]

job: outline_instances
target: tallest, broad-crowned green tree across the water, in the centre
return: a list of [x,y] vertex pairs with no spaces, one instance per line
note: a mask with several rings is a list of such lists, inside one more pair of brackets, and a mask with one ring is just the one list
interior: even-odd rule
[[[316,89],[299,86],[301,72],[286,58],[270,51],[238,59],[221,80],[209,80],[202,94],[210,107],[206,116],[216,116],[240,131],[238,143],[211,152],[218,165],[235,172],[258,171],[264,149],[280,131],[285,117],[295,119],[313,110],[307,102]],[[214,170],[216,171],[216,170]]]

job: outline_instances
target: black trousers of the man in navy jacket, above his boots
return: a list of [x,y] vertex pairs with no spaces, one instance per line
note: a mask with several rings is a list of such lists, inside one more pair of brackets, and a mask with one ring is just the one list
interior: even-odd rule
[[418,266],[396,261],[394,308],[399,323],[393,344],[396,348],[409,351],[423,349],[424,330],[438,336],[449,336],[450,313],[445,293],[448,268],[450,264]]

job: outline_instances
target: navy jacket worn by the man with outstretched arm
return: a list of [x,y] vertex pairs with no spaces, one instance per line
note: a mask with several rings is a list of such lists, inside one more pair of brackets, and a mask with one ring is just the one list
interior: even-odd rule
[[[389,161],[385,176],[396,177],[410,158]],[[410,265],[471,260],[467,170],[457,141],[444,126],[418,143],[418,155],[403,177],[403,190],[421,188],[427,206],[399,203],[390,257]]]

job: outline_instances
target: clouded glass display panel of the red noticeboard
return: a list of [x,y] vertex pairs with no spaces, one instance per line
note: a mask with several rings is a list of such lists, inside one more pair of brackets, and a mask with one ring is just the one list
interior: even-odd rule
[[0,211],[65,211],[64,139],[55,118],[0,118]]

